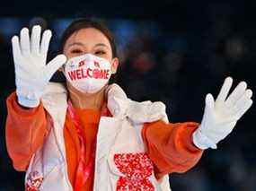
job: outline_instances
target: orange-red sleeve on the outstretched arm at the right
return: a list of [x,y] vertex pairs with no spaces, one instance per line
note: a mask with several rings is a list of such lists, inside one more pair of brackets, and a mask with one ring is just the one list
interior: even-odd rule
[[156,178],[172,172],[185,172],[197,164],[203,151],[192,143],[197,123],[165,124],[163,121],[146,123],[142,137],[147,153],[154,162]]

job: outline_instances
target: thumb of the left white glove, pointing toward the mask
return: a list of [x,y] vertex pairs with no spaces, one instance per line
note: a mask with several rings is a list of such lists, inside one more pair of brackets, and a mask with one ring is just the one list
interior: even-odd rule
[[46,75],[46,79],[49,80],[51,76],[60,68],[61,65],[66,63],[65,55],[58,55],[53,58],[48,65],[45,66],[44,73]]

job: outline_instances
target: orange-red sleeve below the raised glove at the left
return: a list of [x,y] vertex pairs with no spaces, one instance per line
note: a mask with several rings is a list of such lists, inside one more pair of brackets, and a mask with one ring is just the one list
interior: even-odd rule
[[13,161],[13,167],[19,171],[28,168],[31,156],[43,144],[47,135],[46,112],[42,104],[35,109],[23,109],[13,92],[6,100],[6,145]]

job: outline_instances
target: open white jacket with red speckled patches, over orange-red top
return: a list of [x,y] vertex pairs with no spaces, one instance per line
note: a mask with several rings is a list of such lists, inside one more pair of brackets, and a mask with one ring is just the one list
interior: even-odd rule
[[[110,85],[106,93],[107,107],[113,117],[101,117],[99,123],[93,191],[135,190],[135,187],[170,191],[168,175],[159,181],[154,177],[153,163],[141,137],[144,123],[159,119],[168,123],[164,104],[129,100],[117,84]],[[66,88],[50,82],[42,98],[49,113],[49,135],[31,158],[25,179],[27,190],[73,190],[67,175],[63,135],[66,100]]]

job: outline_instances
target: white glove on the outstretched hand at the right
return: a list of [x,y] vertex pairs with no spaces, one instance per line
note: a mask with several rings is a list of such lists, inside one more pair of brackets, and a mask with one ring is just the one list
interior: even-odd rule
[[246,82],[240,82],[228,98],[233,79],[228,77],[216,101],[207,94],[202,122],[193,134],[193,142],[199,149],[216,149],[216,143],[229,135],[237,120],[252,106],[252,91]]

